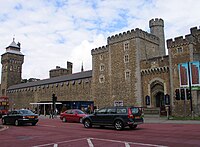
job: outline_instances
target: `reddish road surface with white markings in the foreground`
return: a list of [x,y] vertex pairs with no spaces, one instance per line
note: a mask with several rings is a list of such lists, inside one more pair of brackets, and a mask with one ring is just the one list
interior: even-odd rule
[[41,118],[36,126],[0,131],[1,147],[199,147],[200,124],[145,123],[136,130],[112,127],[86,129],[59,118]]

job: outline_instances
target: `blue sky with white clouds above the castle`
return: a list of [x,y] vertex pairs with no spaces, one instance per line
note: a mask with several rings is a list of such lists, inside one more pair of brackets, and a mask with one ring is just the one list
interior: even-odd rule
[[[22,78],[49,78],[56,66],[92,70],[91,50],[109,36],[164,20],[165,39],[200,25],[197,0],[0,0],[0,54],[13,38],[25,55]],[[166,49],[167,50],[167,49]],[[1,69],[0,69],[1,71]]]

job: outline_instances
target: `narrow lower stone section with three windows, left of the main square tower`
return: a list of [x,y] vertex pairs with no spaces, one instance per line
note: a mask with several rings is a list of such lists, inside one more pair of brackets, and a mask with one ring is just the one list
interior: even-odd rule
[[92,97],[98,107],[110,102],[110,64],[108,46],[92,50]]

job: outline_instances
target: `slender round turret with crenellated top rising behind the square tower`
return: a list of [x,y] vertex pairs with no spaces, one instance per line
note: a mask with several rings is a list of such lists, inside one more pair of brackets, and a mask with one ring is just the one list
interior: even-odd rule
[[159,37],[160,39],[160,56],[166,55],[165,52],[165,33],[164,33],[164,21],[162,19],[151,19],[149,21],[150,33]]

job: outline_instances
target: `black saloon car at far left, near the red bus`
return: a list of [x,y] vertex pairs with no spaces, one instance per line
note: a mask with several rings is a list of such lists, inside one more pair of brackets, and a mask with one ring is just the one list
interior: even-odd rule
[[14,124],[16,126],[31,123],[35,126],[38,122],[38,115],[27,109],[13,110],[2,116],[2,124]]

